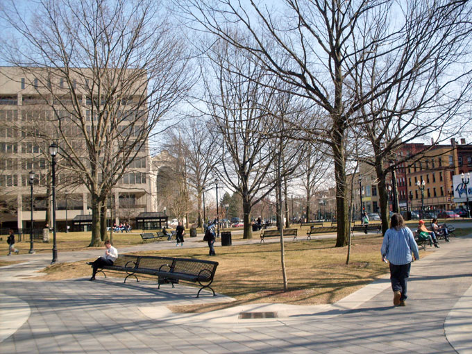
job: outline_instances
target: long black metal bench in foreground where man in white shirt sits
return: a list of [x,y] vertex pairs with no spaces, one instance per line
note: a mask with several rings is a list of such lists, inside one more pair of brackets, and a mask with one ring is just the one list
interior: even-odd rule
[[136,281],[140,281],[136,274],[146,276],[156,276],[158,278],[158,289],[161,284],[174,284],[179,280],[187,283],[199,283],[201,288],[196,293],[198,298],[203,289],[210,289],[213,296],[216,296],[210,284],[213,282],[214,273],[217,270],[218,262],[210,260],[196,260],[193,258],[171,258],[153,255],[119,255],[112,265],[104,265],[100,271],[106,278],[105,270],[122,271],[128,275],[124,278],[124,283],[130,276],[134,276]]

